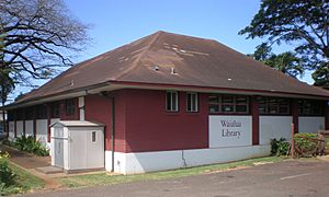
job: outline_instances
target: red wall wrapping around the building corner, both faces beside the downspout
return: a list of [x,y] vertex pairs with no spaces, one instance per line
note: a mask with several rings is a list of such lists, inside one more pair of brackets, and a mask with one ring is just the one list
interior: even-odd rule
[[86,120],[106,125],[105,150],[112,150],[112,99],[115,102],[117,152],[166,151],[208,147],[207,96],[198,95],[198,113],[186,113],[180,92],[178,113],[166,112],[166,91],[120,90],[111,95],[84,97]]

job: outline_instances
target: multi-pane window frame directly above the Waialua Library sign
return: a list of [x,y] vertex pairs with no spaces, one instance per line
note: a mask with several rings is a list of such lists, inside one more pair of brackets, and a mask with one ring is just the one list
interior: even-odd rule
[[[211,96],[216,99],[216,102],[211,102]],[[231,97],[231,102],[225,102],[223,97]],[[246,99],[245,103],[238,103],[237,99],[243,97]],[[225,112],[223,111],[224,106],[232,107],[232,111]],[[237,106],[246,106],[246,112],[237,112]],[[217,112],[211,112],[211,107],[217,108]],[[209,114],[218,114],[218,115],[249,115],[250,114],[250,99],[248,95],[234,95],[234,94],[211,94],[208,96],[208,113]]]

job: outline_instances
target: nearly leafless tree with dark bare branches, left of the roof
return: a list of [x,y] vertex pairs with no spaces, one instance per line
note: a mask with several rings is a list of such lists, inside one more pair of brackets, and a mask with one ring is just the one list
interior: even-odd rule
[[0,0],[3,38],[1,72],[15,82],[48,79],[71,66],[68,54],[81,51],[88,26],[61,0]]

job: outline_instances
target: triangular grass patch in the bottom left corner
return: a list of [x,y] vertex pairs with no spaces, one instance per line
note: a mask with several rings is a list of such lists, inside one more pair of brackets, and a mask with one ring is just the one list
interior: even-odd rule
[[29,190],[39,189],[45,186],[43,179],[30,174],[29,172],[18,167],[16,165],[9,162],[9,166],[16,175],[14,178],[14,185],[5,188],[1,188],[0,196],[10,194],[26,193]]

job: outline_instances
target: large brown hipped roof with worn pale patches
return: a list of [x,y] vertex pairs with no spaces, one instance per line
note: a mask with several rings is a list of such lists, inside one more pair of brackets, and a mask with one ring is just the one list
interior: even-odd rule
[[225,88],[329,97],[326,90],[290,78],[216,40],[157,32],[71,67],[16,103],[106,82]]

